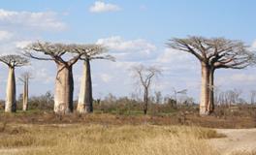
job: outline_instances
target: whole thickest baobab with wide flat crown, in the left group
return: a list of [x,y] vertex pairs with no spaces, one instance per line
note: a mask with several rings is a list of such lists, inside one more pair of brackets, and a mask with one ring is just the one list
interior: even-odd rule
[[94,50],[91,45],[65,45],[36,42],[24,48],[24,55],[37,59],[54,61],[57,67],[55,78],[54,112],[73,111],[73,65],[84,53]]

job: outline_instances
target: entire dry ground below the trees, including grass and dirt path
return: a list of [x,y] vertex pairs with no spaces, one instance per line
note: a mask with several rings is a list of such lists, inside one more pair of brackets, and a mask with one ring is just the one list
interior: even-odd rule
[[[242,110],[240,110],[241,112]],[[1,155],[255,155],[253,116],[0,113]],[[231,129],[232,128],[232,129]]]

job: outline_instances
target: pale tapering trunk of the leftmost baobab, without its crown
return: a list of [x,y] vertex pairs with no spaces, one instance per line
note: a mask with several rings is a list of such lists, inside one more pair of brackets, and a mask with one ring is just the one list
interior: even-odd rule
[[16,76],[15,68],[9,67],[9,75],[7,81],[6,89],[6,112],[15,112],[16,111]]

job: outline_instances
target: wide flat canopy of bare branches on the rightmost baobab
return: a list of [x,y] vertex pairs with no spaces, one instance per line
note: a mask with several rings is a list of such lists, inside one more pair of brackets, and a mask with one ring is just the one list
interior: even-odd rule
[[253,59],[253,53],[243,42],[225,38],[174,38],[167,45],[189,52],[214,68],[242,69],[250,65]]

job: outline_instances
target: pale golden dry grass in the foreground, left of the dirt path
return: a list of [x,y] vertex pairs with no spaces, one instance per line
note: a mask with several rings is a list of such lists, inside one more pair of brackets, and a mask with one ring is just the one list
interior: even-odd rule
[[[73,124],[5,128],[0,133],[0,147],[33,148],[18,152],[21,155],[217,155],[206,139],[221,137],[210,129],[185,126]],[[14,130],[21,132],[12,134]]]

